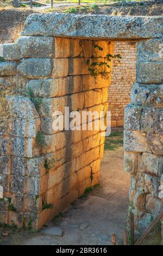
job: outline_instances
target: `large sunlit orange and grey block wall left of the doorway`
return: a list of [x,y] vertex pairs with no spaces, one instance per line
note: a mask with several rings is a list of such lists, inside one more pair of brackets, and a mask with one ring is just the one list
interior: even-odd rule
[[65,114],[65,106],[70,112],[108,108],[110,78],[95,82],[86,65],[95,44],[104,48],[97,56],[112,54],[109,41],[52,36],[21,36],[3,45],[1,86],[10,75],[20,90],[7,96],[12,119],[1,131],[1,222],[40,228],[98,183],[103,131],[52,127],[54,111]]

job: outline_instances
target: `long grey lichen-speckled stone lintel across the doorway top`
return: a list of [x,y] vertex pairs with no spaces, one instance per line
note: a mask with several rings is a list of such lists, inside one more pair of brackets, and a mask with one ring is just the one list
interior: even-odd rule
[[90,39],[162,38],[163,17],[33,14],[22,35]]

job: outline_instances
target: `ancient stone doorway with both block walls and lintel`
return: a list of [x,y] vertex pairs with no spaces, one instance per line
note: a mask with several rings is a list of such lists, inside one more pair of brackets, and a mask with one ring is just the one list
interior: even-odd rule
[[[72,110],[105,108],[108,86],[83,78],[90,75],[87,45],[109,42],[111,51],[113,41],[131,39],[138,41],[138,55],[124,117],[124,169],[131,174],[130,210],[136,227],[143,230],[156,216],[162,207],[162,17],[34,14],[17,44],[4,45],[6,61],[1,64],[4,82],[10,72],[11,78],[18,75],[20,87],[30,89],[28,97],[7,98],[14,123],[1,135],[1,185],[7,198],[2,200],[3,222],[40,228],[97,183],[104,149],[101,131],[53,133],[52,113],[63,113],[67,105]],[[10,197],[14,212],[8,207]]]

